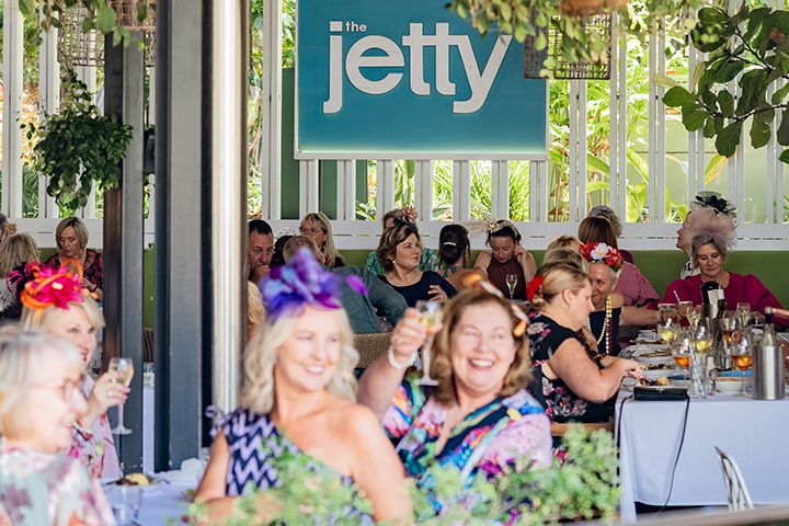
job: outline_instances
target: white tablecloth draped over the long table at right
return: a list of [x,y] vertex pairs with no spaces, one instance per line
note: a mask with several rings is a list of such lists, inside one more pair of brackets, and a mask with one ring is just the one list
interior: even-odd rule
[[[662,506],[679,448],[685,403],[617,401],[621,518],[636,522],[636,502]],[[789,503],[789,398],[756,401],[717,393],[691,400],[671,506],[725,505],[719,447],[740,466],[755,504]]]

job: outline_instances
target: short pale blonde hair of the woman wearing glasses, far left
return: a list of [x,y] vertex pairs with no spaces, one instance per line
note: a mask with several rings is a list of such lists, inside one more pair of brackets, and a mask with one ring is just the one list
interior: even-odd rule
[[45,363],[65,366],[75,375],[84,368],[79,350],[57,336],[41,331],[0,331],[0,435],[21,436],[28,432],[31,419],[25,401]]

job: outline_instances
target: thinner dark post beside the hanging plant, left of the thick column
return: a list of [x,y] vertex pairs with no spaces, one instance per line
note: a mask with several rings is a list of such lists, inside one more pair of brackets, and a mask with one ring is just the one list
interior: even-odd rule
[[[133,33],[135,41],[141,33]],[[130,125],[121,186],[104,194],[104,361],[130,358],[135,367],[124,420],[133,433],[116,438],[124,472],[142,471],[142,243],[145,57],[136,45],[105,42],[104,107]],[[111,410],[114,411],[114,410]]]

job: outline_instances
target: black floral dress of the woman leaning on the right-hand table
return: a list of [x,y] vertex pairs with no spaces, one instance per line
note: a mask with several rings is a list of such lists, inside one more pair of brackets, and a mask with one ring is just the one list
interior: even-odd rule
[[[545,315],[537,313],[533,316],[531,324],[528,328],[533,367],[537,368],[548,362],[559,346],[569,339],[578,340],[578,335]],[[551,422],[563,423],[570,420],[576,422],[602,422],[608,420],[606,405],[584,400],[572,392],[561,379],[551,380],[542,376],[541,384],[546,404],[545,411]],[[529,386],[529,389],[531,388]],[[542,397],[538,396],[538,398]]]

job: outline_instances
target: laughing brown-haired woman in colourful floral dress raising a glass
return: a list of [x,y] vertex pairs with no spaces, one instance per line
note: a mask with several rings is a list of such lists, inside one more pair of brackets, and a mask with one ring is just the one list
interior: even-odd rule
[[526,317],[479,283],[484,288],[459,294],[444,309],[430,369],[437,386],[405,376],[427,335],[415,309],[395,328],[388,355],[359,380],[359,402],[400,441],[400,460],[420,483],[435,464],[471,480],[480,470],[495,477],[524,457],[535,466],[551,461],[548,419],[523,389],[530,367]]

